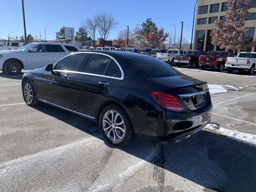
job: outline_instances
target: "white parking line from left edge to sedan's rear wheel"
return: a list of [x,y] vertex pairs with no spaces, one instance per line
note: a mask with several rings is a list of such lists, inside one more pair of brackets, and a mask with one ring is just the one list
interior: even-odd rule
[[92,136],[90,138],[86,138],[84,140],[80,140],[80,141],[77,141],[77,142],[74,142],[74,143],[62,145],[60,147],[52,148],[52,149],[49,149],[49,150],[41,151],[41,152],[38,152],[38,153],[35,153],[35,154],[31,154],[31,155],[28,155],[28,156],[23,156],[23,157],[20,157],[20,158],[17,158],[17,159],[13,159],[13,160],[10,160],[10,161],[7,161],[7,162],[3,162],[3,163],[0,163],[0,168],[2,168],[4,166],[11,165],[11,164],[15,164],[15,163],[18,163],[18,162],[22,162],[22,161],[25,161],[25,160],[28,160],[28,159],[31,159],[31,158],[43,156],[43,155],[46,155],[46,154],[50,154],[50,153],[53,153],[53,152],[57,152],[57,151],[60,151],[60,150],[64,150],[64,149],[67,149],[67,148],[78,146],[80,144],[84,144],[84,143],[87,143],[87,142],[92,142],[93,140],[98,139],[98,137],[100,137],[100,136],[101,135],[98,135],[98,136],[95,136],[95,137]]

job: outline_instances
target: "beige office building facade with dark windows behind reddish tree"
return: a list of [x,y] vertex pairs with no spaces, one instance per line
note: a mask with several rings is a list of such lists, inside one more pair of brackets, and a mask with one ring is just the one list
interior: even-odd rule
[[[214,29],[214,21],[222,20],[225,22],[225,13],[227,10],[227,0],[198,0],[195,30],[194,30],[194,50],[216,51],[220,50],[219,46],[211,43],[210,32]],[[249,10],[245,26],[249,31],[244,34],[246,37],[256,39],[256,0],[251,0],[251,8]],[[247,51],[254,51],[254,47],[248,48]],[[256,51],[256,50],[255,50]]]

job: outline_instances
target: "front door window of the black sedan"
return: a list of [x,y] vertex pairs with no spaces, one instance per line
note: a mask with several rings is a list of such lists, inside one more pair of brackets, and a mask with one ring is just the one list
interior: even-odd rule
[[78,65],[84,58],[85,53],[73,54],[62,60],[60,60],[54,70],[68,70],[68,71],[76,71]]

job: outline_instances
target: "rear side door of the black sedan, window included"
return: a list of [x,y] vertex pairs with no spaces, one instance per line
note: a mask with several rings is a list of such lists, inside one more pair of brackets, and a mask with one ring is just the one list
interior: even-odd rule
[[90,53],[80,73],[73,80],[72,109],[90,118],[96,117],[96,108],[103,97],[123,78],[123,72],[114,58]]

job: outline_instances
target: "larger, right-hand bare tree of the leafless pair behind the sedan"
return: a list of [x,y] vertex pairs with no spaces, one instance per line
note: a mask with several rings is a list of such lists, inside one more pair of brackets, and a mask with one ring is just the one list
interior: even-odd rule
[[118,25],[118,21],[111,14],[98,13],[94,17],[96,23],[96,29],[98,30],[100,37],[103,41],[103,46],[108,39],[109,32],[114,30]]

